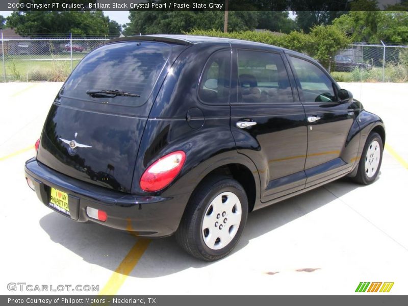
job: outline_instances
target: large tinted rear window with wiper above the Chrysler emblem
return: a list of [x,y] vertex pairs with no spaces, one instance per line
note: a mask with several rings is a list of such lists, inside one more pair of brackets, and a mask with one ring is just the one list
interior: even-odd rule
[[[169,45],[160,42],[121,42],[94,50],[74,69],[61,95],[94,102],[140,106],[149,97],[170,56]],[[88,90],[119,90],[140,95],[92,97]]]

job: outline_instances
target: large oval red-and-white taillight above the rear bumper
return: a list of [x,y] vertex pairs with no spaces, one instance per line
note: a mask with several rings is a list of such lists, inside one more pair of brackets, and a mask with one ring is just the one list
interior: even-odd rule
[[179,174],[185,161],[186,154],[183,151],[175,151],[158,159],[144,171],[140,188],[148,192],[163,189]]

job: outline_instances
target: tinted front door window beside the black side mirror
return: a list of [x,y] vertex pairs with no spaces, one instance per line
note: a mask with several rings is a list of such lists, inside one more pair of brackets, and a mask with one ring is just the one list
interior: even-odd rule
[[311,62],[290,57],[305,102],[335,101],[333,85],[327,75]]

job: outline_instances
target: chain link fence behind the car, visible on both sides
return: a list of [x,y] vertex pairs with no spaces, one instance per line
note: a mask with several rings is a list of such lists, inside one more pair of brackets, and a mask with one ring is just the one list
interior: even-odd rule
[[[63,82],[104,38],[7,38],[0,41],[0,82]],[[408,46],[355,43],[332,59],[338,82],[408,82]]]

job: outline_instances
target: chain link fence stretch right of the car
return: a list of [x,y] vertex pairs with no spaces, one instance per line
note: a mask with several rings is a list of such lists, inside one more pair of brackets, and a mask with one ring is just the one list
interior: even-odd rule
[[355,43],[330,66],[339,82],[408,82],[408,46]]

